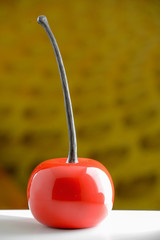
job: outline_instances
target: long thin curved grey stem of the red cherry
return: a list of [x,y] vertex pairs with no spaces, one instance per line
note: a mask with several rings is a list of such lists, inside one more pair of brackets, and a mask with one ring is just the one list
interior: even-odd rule
[[66,115],[67,115],[67,123],[68,123],[68,134],[69,134],[69,154],[68,154],[67,163],[78,163],[77,140],[76,140],[76,131],[75,131],[74,118],[73,118],[73,111],[72,111],[72,103],[71,103],[67,76],[66,76],[64,65],[63,65],[62,57],[61,57],[56,39],[48,24],[46,16],[43,16],[43,15],[39,16],[37,18],[37,22],[41,24],[41,26],[45,29],[45,31],[49,36],[49,39],[51,41],[51,44],[53,46],[53,50],[56,56],[59,73],[61,77],[65,109],[66,109]]

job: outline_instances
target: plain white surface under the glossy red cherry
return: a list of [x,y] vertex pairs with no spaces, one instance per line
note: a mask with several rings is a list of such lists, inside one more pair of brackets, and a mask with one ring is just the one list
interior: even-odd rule
[[112,211],[94,228],[54,229],[38,223],[29,210],[0,211],[0,240],[160,240],[160,211]]

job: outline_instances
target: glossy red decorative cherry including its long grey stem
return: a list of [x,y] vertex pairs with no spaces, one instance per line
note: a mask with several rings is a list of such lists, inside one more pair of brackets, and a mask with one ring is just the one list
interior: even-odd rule
[[51,159],[32,172],[27,188],[29,208],[41,223],[56,228],[87,228],[101,222],[112,209],[114,186],[98,161],[77,158],[77,141],[67,77],[47,18],[37,19],[47,32],[56,55],[63,87],[68,132],[68,158]]

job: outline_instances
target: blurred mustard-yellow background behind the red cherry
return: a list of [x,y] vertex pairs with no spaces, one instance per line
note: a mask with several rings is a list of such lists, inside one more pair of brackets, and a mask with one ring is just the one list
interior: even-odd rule
[[0,209],[27,208],[40,162],[68,155],[55,34],[78,156],[102,162],[114,209],[160,209],[160,1],[0,1]]

